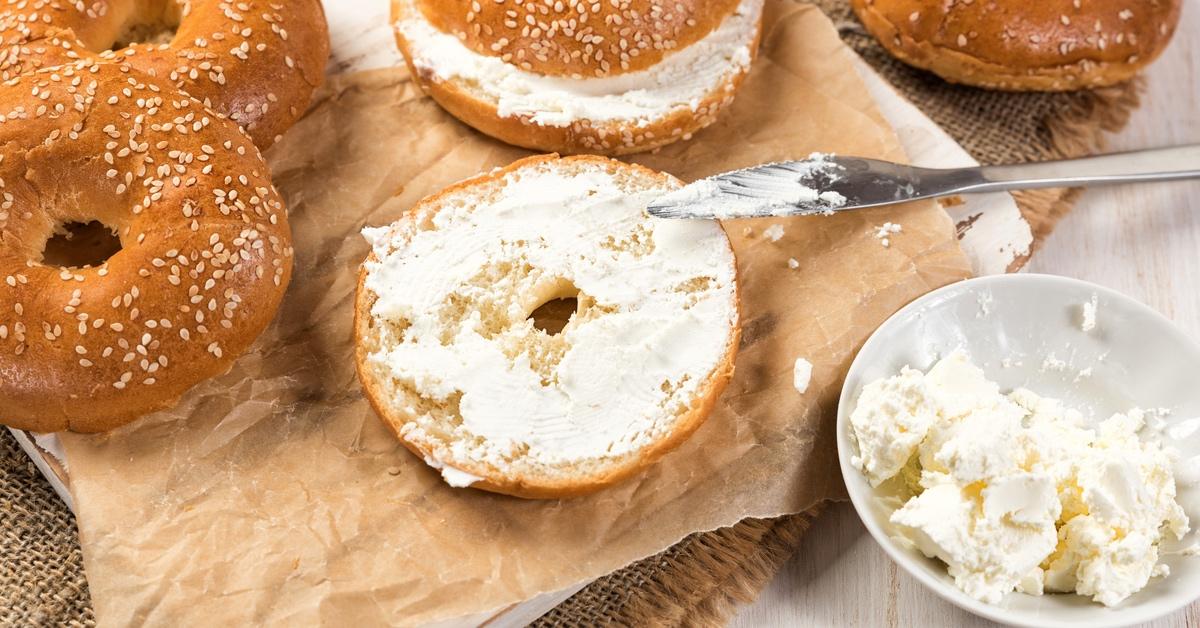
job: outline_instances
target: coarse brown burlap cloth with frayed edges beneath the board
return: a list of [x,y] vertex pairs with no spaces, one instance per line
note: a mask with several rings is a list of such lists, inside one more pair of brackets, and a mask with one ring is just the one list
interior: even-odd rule
[[[1103,131],[1124,126],[1138,104],[1136,84],[1058,95],[949,85],[888,56],[845,0],[815,4],[847,44],[983,163],[1093,152],[1103,145]],[[1034,244],[1074,198],[1064,190],[1018,195]],[[588,585],[535,624],[724,623],[736,604],[752,600],[770,581],[820,510],[692,534]],[[74,519],[7,431],[0,436],[0,624],[95,624]]]

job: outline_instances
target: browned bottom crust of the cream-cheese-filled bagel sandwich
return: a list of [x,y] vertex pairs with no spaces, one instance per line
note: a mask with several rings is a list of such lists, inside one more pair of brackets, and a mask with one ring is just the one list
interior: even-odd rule
[[[402,18],[402,5],[401,0],[392,0],[394,23]],[[758,32],[751,44],[751,58],[758,54],[761,36],[760,22]],[[677,108],[643,126],[622,121],[594,124],[589,120],[580,120],[570,126],[545,126],[526,115],[502,116],[497,103],[473,94],[466,85],[440,80],[428,72],[420,71],[413,65],[408,41],[398,30],[396,42],[416,84],[451,115],[502,142],[530,150],[565,155],[630,155],[688,139],[696,131],[716,121],[720,112],[733,102],[738,88],[749,72],[746,68],[731,74],[698,102],[695,109]]]

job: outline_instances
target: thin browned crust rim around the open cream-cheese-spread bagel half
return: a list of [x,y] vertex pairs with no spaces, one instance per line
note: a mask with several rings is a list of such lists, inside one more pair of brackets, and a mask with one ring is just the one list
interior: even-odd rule
[[[416,205],[414,205],[404,216],[400,220],[418,220],[419,214],[421,214],[422,207],[431,207],[438,203],[443,197],[457,193],[462,190],[469,190],[480,184],[488,181],[494,181],[504,178],[508,173],[523,167],[534,166],[536,163],[544,163],[558,160],[558,155],[536,155],[532,157],[526,157],[523,160],[515,161],[504,168],[496,169],[487,174],[482,174],[464,181],[460,181],[440,192],[431,195],[421,199]],[[602,165],[607,168],[625,168],[637,171],[643,177],[653,177],[656,179],[672,179],[670,174],[654,172],[643,166],[634,163],[624,163],[613,160],[607,160],[598,156],[581,155],[575,157],[565,157],[568,160],[578,160],[592,163]],[[724,228],[724,227],[722,227]],[[410,420],[400,413],[394,412],[394,409],[384,401],[386,399],[386,393],[382,390],[379,382],[376,381],[374,375],[371,372],[368,364],[368,357],[374,351],[372,341],[376,334],[372,331],[371,325],[371,306],[376,301],[376,295],[371,293],[365,287],[366,282],[366,265],[377,261],[374,252],[367,256],[362,265],[359,268],[359,282],[358,291],[354,299],[354,340],[355,340],[355,367],[359,375],[359,382],[362,384],[362,389],[366,394],[367,400],[371,402],[371,407],[374,408],[376,413],[384,420],[385,424],[396,435],[396,438],[414,455],[421,460],[428,460],[433,451],[422,447],[424,443],[415,443],[401,435],[401,427]],[[738,286],[740,293],[740,285]],[[738,309],[740,317],[740,294],[734,297],[734,305]],[[512,495],[515,497],[524,497],[532,500],[550,500],[550,498],[565,498],[576,497],[581,495],[587,495],[595,492],[606,486],[611,486],[622,480],[630,478],[631,476],[646,469],[664,455],[666,455],[672,449],[679,447],[684,441],[688,439],[708,418],[715,406],[718,399],[720,399],[721,393],[725,387],[733,378],[733,363],[737,357],[738,345],[742,339],[742,328],[739,322],[733,324],[731,330],[728,343],[726,345],[725,357],[720,360],[718,366],[713,369],[709,373],[704,387],[696,394],[692,400],[692,405],[688,408],[688,412],[677,419],[674,429],[671,433],[652,445],[647,447],[635,456],[628,456],[625,461],[619,466],[611,466],[602,474],[595,474],[593,477],[580,479],[548,479],[548,478],[496,478],[494,473],[490,473],[486,467],[478,466],[470,467],[469,465],[461,465],[461,471],[470,473],[481,479],[472,483],[473,489],[481,489],[492,492],[499,492],[505,495]]]

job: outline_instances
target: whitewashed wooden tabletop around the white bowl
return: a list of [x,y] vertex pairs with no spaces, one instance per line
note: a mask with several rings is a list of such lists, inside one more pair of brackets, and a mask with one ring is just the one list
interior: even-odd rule
[[[1171,47],[1114,150],[1200,143],[1200,5],[1184,2]],[[1200,183],[1085,193],[1028,265],[1121,291],[1200,340]],[[943,602],[899,569],[848,503],[836,504],[737,627],[994,626]],[[1200,603],[1150,626],[1200,626]]]

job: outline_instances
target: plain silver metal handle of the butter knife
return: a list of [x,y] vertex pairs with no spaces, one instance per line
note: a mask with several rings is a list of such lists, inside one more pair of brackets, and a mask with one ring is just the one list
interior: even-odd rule
[[1036,187],[1075,187],[1136,181],[1175,181],[1200,178],[1200,144],[1078,160],[984,166],[978,179],[962,192],[994,192]]

